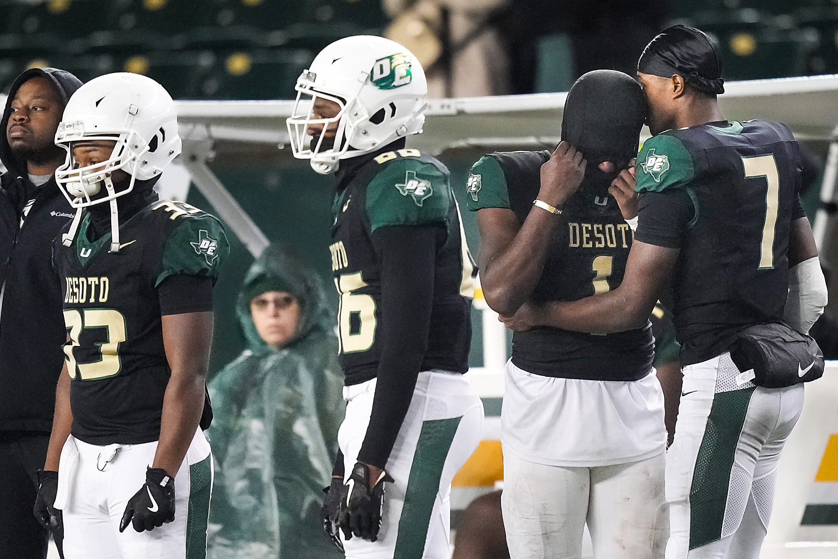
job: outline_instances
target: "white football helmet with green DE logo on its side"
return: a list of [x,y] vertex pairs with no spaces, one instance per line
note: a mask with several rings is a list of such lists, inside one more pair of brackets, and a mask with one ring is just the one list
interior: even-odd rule
[[[340,159],[418,134],[425,123],[425,70],[409,50],[383,37],[358,35],[329,44],[295,89],[297,102],[287,119],[292,152],[295,158],[311,159],[321,174],[333,173]],[[337,116],[313,118],[318,98],[337,103]],[[309,136],[309,127],[325,129],[334,123],[334,145],[323,149],[323,134]]]

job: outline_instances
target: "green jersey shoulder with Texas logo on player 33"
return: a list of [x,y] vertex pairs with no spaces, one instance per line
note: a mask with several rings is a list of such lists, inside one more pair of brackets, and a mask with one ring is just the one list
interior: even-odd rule
[[211,277],[215,282],[221,264],[230,254],[230,243],[220,220],[192,205],[170,200],[154,204],[152,211],[166,212],[167,220],[174,222],[163,246],[155,286],[177,274]]

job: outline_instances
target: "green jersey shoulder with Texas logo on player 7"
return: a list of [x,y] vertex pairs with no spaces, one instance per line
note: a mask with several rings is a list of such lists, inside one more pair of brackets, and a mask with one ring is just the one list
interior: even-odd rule
[[644,142],[636,169],[638,192],[685,187],[696,176],[690,150],[672,132],[660,133]]

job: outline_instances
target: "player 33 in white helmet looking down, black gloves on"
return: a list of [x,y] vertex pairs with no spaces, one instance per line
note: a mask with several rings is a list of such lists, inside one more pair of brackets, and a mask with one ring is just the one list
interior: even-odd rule
[[53,247],[68,341],[44,465],[58,494],[43,505],[63,511],[67,559],[203,556],[204,377],[224,229],[152,189],[181,145],[154,80],[83,85],[55,142],[67,150],[56,179],[78,213]]

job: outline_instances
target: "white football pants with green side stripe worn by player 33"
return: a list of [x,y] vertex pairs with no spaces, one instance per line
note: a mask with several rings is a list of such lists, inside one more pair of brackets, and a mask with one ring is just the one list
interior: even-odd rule
[[146,483],[157,442],[96,446],[70,435],[61,451],[56,508],[64,510],[65,559],[198,559],[206,556],[212,454],[200,429],[174,478],[174,520],[137,532],[119,523]]

